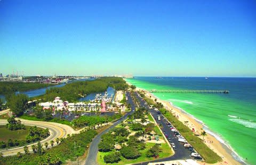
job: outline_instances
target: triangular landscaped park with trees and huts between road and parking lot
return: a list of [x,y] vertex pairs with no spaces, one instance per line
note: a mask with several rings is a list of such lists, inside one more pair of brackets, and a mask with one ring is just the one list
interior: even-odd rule
[[144,108],[103,135],[98,147],[97,162],[100,165],[147,162],[173,154],[161,130]]

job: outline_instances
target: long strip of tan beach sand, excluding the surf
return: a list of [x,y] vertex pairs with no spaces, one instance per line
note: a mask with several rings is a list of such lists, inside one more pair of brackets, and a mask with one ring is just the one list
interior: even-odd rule
[[[129,83],[128,83],[129,84]],[[195,118],[190,116],[189,114],[185,113],[184,111],[176,108],[173,106],[170,102],[159,100],[156,96],[153,94],[147,92],[145,89],[136,88],[136,90],[143,90],[146,93],[147,97],[150,97],[155,100],[157,99],[157,102],[160,102],[164,105],[164,108],[166,108],[168,111],[172,112],[176,117],[178,116],[179,120],[182,123],[185,123],[185,121],[188,121],[187,126],[192,130],[195,129],[195,132],[197,134],[201,134],[203,131],[203,124],[198,122]],[[202,136],[199,136],[201,139],[203,139]],[[231,155],[231,150],[228,149],[228,147],[224,144],[222,144],[220,141],[218,141],[217,138],[215,138],[213,135],[207,133],[207,135],[204,137],[205,144],[209,146],[211,150],[216,152],[219,156],[222,158],[222,162],[214,163],[214,164],[242,164],[241,162],[236,161],[233,156]],[[208,164],[205,162],[198,162],[200,164]]]

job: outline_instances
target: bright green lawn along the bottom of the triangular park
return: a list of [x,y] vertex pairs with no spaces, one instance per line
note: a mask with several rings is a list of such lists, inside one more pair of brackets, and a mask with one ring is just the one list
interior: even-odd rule
[[[125,159],[123,156],[121,156],[121,161],[119,161],[118,163],[111,163],[113,165],[118,165],[118,164],[133,164],[133,163],[139,163],[139,162],[145,162],[145,161],[151,161],[151,160],[156,160],[156,158],[148,158],[146,156],[146,152],[150,149],[150,147],[152,147],[153,145],[155,145],[155,143],[147,143],[146,144],[146,149],[140,151],[141,152],[141,156],[137,159]],[[171,156],[173,153],[169,147],[168,144],[164,143],[161,144],[161,148],[163,149],[163,152],[159,153],[159,157],[157,159],[161,159],[161,158],[165,158],[168,156]],[[100,165],[106,164],[103,160],[103,157],[109,153],[115,152],[110,151],[110,152],[98,152],[97,155],[97,161]],[[108,163],[110,164],[110,163]]]

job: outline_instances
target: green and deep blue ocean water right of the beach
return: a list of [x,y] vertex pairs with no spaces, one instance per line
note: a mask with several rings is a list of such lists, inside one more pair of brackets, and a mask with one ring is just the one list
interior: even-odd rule
[[236,160],[256,164],[256,78],[134,77],[139,88],[230,90],[229,94],[154,93],[204,124]]

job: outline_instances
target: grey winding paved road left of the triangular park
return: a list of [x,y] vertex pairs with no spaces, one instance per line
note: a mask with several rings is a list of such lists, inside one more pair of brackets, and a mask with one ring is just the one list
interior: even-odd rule
[[131,111],[129,113],[126,113],[125,116],[123,116],[121,119],[117,120],[116,122],[113,123],[113,125],[111,127],[109,127],[108,129],[102,131],[102,133],[100,133],[98,136],[96,136],[91,145],[90,145],[90,149],[89,149],[89,153],[88,156],[85,160],[85,164],[86,165],[97,165],[97,153],[98,153],[98,144],[100,142],[101,136],[103,134],[106,134],[110,129],[114,128],[116,125],[118,125],[121,121],[125,120],[127,118],[127,116],[129,116],[129,114],[132,114],[135,111],[135,105],[132,101],[130,92],[126,92],[126,97],[128,98],[127,103],[131,104]]

